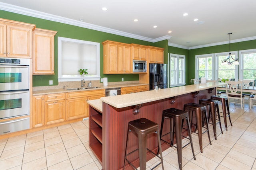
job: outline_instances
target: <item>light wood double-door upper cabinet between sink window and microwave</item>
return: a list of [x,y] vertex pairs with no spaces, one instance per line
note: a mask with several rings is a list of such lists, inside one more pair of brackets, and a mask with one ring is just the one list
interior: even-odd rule
[[130,45],[114,41],[103,43],[103,73],[130,73]]

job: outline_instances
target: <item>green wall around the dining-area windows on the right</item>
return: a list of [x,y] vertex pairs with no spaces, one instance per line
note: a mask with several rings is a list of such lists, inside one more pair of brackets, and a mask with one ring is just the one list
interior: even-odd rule
[[[243,41],[238,43],[231,43],[230,44],[230,51],[240,51],[240,50],[247,50],[247,49],[256,49],[256,40],[251,41]],[[222,53],[229,51],[229,44],[224,45],[216,45],[212,47],[204,47],[199,49],[190,49],[189,57],[188,57],[188,68],[186,75],[186,82],[190,84],[190,80],[192,78],[195,78],[195,67],[196,67],[196,55],[202,55],[202,54],[212,54],[212,53]],[[239,65],[238,65],[239,67]]]

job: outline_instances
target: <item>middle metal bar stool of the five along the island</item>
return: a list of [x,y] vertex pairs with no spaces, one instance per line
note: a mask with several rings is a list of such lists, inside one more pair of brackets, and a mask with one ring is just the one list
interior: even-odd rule
[[[184,111],[188,111],[189,113],[191,127],[192,127],[193,112],[196,113],[196,125],[198,127],[198,133],[196,133],[195,131],[192,131],[192,132],[198,134],[200,150],[202,153],[203,152],[202,134],[206,132],[208,133],[209,142],[210,142],[210,145],[212,145],[211,139],[210,139],[209,127],[208,127],[206,106],[201,104],[188,103],[188,104],[184,104]],[[204,122],[206,122],[206,131],[204,132],[202,132],[202,115],[204,117]]]

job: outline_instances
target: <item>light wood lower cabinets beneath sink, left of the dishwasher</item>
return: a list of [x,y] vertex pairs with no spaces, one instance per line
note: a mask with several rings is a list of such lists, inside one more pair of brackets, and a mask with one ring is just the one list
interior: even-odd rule
[[40,127],[88,117],[87,100],[104,96],[104,89],[33,96],[32,125]]

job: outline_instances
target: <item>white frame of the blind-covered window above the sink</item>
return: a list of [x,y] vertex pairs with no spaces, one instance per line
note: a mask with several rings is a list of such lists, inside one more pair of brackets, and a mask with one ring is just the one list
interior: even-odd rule
[[[70,42],[70,43],[80,43],[85,45],[95,45],[96,46],[96,75],[90,75],[90,71],[88,70],[88,74],[85,77],[81,77],[79,73],[77,75],[72,75],[69,77],[62,76],[62,42]],[[78,68],[79,70],[80,68]],[[83,68],[85,69],[85,68]],[[80,81],[81,78],[85,80],[100,80],[100,43],[84,41],[79,39],[70,39],[65,37],[58,37],[58,81],[66,82],[66,81]]]

